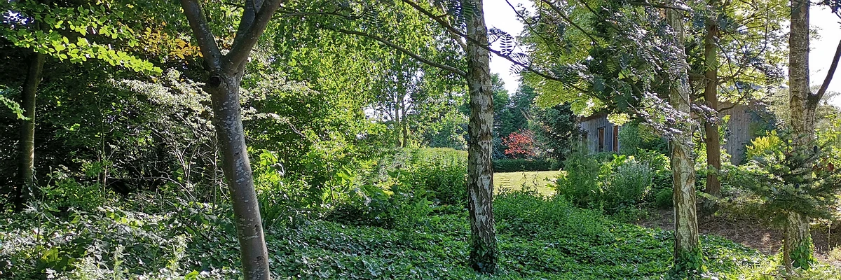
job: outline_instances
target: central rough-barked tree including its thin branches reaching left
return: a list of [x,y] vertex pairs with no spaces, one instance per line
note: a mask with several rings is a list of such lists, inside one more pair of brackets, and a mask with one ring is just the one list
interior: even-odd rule
[[[494,92],[490,75],[490,56],[488,29],[484,23],[482,0],[461,0],[436,3],[436,7],[421,5],[411,0],[401,0],[443,29],[445,38],[458,45],[467,60],[467,71],[463,66],[452,66],[437,62],[430,57],[417,54],[404,46],[395,44],[388,37],[375,32],[378,29],[364,31],[331,28],[336,32],[364,36],[409,55],[416,61],[448,71],[463,77],[468,85],[470,116],[468,119],[468,212],[470,219],[470,258],[469,265],[477,272],[494,273],[497,268],[498,247],[493,212],[493,129],[494,129]],[[394,5],[389,5],[389,8]],[[366,10],[366,14],[378,14],[376,6]],[[380,7],[381,8],[381,7]],[[443,14],[436,14],[433,13]],[[376,26],[374,24],[374,26]],[[464,31],[461,30],[463,28]]]

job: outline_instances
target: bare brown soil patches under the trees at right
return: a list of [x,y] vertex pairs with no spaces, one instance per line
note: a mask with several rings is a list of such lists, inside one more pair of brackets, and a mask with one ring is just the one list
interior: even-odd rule
[[[723,213],[722,213],[723,212]],[[647,228],[674,230],[674,211],[672,209],[652,210],[646,219],[637,221],[637,225]],[[717,235],[733,240],[760,251],[768,256],[780,252],[783,235],[780,230],[763,223],[755,217],[743,214],[728,214],[726,210],[718,214],[699,217],[698,230],[701,235]],[[815,257],[818,261],[841,267],[841,258],[831,253],[838,247],[841,232],[829,230],[828,225],[812,225],[812,240],[815,243]]]

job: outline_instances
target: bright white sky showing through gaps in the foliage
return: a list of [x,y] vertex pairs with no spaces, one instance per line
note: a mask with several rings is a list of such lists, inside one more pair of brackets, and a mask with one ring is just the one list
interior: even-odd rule
[[[509,2],[515,7],[519,4],[531,7],[531,1],[529,0],[509,0]],[[810,12],[809,20],[812,30],[816,30],[819,36],[817,40],[810,42],[810,78],[812,85],[819,86],[827,75],[829,62],[832,61],[835,49],[838,47],[838,40],[841,40],[841,24],[838,24],[841,19],[830,12],[828,8],[818,7],[817,5],[813,5]],[[520,34],[523,29],[516,13],[505,0],[485,0],[484,15],[489,27],[502,29],[508,34]],[[499,57],[491,57],[490,71],[499,73],[502,81],[505,82],[505,88],[508,89],[509,94],[513,94],[517,89],[518,77],[511,73],[510,66],[509,61]],[[841,70],[835,72],[833,82],[829,84],[828,90],[841,92]],[[835,98],[832,103],[841,106],[841,97]]]

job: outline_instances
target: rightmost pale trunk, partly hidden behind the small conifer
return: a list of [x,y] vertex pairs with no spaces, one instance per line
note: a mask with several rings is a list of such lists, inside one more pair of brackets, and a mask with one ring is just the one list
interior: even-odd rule
[[[789,34],[789,106],[791,129],[796,145],[809,145],[814,140],[815,103],[809,102],[809,2],[791,1],[791,33]],[[783,264],[808,268],[812,262],[812,238],[809,218],[791,212],[783,231]]]

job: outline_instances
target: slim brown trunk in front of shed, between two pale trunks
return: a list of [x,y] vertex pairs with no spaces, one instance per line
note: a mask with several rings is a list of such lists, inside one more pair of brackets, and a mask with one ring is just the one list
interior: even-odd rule
[[[716,0],[710,1],[712,10],[716,10]],[[716,46],[716,37],[718,35],[718,24],[712,18],[706,20],[706,36],[704,37],[704,60],[706,69],[704,71],[705,87],[704,100],[706,106],[712,109],[712,112],[718,112],[718,49]],[[722,169],[722,145],[720,136],[718,135],[718,124],[705,121],[704,133],[706,140],[706,165],[709,169],[715,172],[707,172],[706,174],[706,188],[704,191],[715,197],[722,195],[722,182],[718,180],[717,172]],[[711,167],[711,168],[710,168]]]

